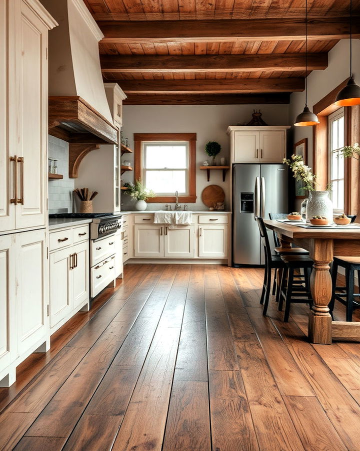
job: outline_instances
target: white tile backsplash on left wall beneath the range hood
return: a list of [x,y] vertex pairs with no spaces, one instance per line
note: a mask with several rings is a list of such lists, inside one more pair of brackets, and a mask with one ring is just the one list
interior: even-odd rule
[[72,211],[74,179],[68,177],[68,143],[48,135],[48,157],[57,160],[57,173],[63,175],[60,180],[49,180],[48,208]]

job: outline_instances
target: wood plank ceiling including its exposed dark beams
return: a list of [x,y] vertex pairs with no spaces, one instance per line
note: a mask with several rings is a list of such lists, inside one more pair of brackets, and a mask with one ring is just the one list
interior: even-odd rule
[[[304,89],[305,0],[84,0],[125,104],[288,103]],[[360,0],[353,0],[353,38]],[[308,71],[348,39],[347,0],[308,0]]]

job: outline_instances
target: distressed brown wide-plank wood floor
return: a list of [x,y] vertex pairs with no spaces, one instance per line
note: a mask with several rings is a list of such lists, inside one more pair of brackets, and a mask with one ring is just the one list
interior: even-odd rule
[[262,271],[127,265],[0,389],[0,449],[360,449],[360,344],[263,318]]

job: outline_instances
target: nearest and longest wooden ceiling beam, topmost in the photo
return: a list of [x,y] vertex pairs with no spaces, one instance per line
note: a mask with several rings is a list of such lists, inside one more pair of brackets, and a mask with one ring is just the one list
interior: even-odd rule
[[[301,41],[303,18],[180,21],[99,21],[104,43]],[[346,39],[349,18],[308,20],[308,39]],[[360,38],[360,21],[353,20],[352,37]]]

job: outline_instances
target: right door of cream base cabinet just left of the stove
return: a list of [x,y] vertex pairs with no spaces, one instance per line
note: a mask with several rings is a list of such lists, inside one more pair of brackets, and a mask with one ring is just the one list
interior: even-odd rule
[[89,244],[80,243],[72,248],[74,268],[72,272],[72,308],[89,300]]

